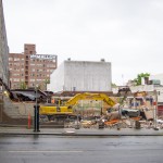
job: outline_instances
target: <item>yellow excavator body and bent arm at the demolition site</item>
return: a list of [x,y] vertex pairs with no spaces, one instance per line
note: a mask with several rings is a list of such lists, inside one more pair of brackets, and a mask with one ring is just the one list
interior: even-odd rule
[[105,93],[84,92],[77,93],[75,97],[67,100],[64,105],[60,104],[53,105],[52,103],[40,105],[39,114],[40,115],[73,114],[73,106],[77,104],[79,100],[104,101],[110,106],[115,105],[115,102]]

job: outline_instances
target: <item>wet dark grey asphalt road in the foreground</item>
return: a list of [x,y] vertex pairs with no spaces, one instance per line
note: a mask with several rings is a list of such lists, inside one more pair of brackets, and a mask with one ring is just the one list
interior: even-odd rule
[[0,137],[0,163],[163,163],[163,137]]

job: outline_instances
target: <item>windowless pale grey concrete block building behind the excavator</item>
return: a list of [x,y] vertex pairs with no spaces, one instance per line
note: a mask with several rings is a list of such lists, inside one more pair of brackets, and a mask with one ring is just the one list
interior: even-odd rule
[[51,75],[50,90],[111,91],[111,63],[64,61]]

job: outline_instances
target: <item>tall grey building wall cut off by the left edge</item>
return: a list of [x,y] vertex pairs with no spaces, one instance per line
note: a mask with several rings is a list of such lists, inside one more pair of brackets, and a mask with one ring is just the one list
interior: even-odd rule
[[8,58],[9,58],[9,47],[3,15],[3,4],[2,0],[0,0],[0,80],[7,86],[9,84]]

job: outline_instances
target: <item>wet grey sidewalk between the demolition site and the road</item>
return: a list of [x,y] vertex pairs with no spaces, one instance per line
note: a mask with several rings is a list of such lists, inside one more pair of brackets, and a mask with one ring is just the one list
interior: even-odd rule
[[53,136],[163,136],[163,129],[97,129],[97,128],[40,128],[40,131],[25,127],[0,127],[1,135],[53,135]]

